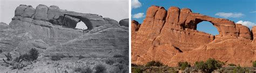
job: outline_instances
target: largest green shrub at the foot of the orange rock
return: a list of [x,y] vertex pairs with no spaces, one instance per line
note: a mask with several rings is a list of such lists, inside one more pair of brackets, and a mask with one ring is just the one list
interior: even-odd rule
[[204,72],[212,72],[213,70],[221,68],[223,65],[224,62],[220,62],[219,60],[215,59],[208,59],[205,62],[200,61],[194,64],[196,69],[202,70]]

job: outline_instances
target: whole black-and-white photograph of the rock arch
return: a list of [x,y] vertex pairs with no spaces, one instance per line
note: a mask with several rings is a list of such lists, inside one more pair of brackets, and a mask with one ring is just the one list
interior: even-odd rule
[[129,0],[0,0],[1,73],[129,73]]

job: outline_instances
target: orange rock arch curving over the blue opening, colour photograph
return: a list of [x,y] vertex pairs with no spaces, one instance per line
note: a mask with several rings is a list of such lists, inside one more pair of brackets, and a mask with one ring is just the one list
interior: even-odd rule
[[212,23],[213,26],[217,28],[220,37],[226,35],[238,37],[233,21],[221,18],[213,18],[199,13],[192,13],[190,9],[180,10],[179,24],[183,28],[196,30],[197,24],[201,21],[209,21]]

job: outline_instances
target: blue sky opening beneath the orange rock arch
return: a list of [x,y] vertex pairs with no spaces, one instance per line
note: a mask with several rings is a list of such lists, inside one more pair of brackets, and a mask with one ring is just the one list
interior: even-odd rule
[[212,34],[212,35],[219,34],[219,31],[217,30],[217,28],[209,21],[201,21],[200,23],[198,23],[197,30],[208,33],[208,34]]

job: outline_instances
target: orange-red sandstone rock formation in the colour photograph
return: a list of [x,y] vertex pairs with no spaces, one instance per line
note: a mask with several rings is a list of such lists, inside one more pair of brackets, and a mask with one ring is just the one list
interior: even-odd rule
[[[197,31],[197,24],[209,21],[219,34]],[[251,67],[256,60],[255,26],[250,29],[221,18],[213,18],[190,9],[160,6],[147,9],[142,25],[132,20],[132,63],[158,60],[169,66],[180,61],[193,64],[214,58],[225,63]]]

